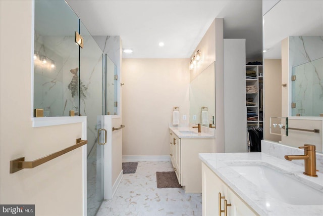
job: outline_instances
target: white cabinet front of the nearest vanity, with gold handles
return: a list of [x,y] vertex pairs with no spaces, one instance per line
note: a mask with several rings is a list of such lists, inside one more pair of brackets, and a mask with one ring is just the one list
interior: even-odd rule
[[[227,206],[225,206],[225,200],[227,200]],[[220,208],[222,212],[220,211]],[[247,205],[239,196],[237,196],[216,174],[214,174],[214,172],[210,168],[208,168],[207,165],[205,165],[205,163],[203,162],[202,162],[202,211],[203,211],[203,214],[202,214],[203,216],[258,215],[252,210],[252,208],[249,205]]]

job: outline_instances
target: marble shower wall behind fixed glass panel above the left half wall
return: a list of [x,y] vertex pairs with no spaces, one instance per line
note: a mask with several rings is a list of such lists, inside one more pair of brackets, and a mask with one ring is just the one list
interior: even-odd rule
[[[35,33],[34,108],[44,109],[44,116],[68,116],[70,110],[78,112],[78,94],[72,96],[68,88],[73,79],[71,70],[79,66],[78,48],[73,40],[73,36]],[[41,56],[47,58],[46,63],[40,61]]]

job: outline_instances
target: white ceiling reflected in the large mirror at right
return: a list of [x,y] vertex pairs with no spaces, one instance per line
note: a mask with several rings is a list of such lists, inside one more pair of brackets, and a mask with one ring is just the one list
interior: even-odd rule
[[265,59],[281,59],[281,41],[288,36],[323,36],[321,0],[282,0],[263,18],[263,47],[270,49]]

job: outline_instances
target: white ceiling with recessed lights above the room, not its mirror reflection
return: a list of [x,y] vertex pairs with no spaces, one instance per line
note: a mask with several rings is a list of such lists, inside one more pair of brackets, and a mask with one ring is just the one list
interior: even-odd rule
[[67,3],[92,35],[120,35],[133,49],[124,58],[189,58],[214,18],[224,18],[225,38],[246,38],[247,58],[262,55],[261,0]]

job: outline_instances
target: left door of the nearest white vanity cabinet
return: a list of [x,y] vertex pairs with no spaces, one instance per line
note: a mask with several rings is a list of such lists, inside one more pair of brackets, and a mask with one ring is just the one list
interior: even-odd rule
[[[227,199],[227,186],[202,163],[202,212],[203,216],[221,215],[221,209],[224,210],[224,199]],[[219,193],[222,198],[219,202]],[[223,213],[224,215],[224,213]]]

